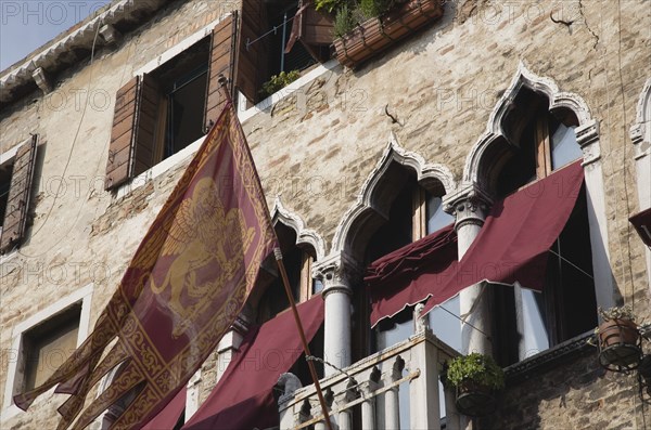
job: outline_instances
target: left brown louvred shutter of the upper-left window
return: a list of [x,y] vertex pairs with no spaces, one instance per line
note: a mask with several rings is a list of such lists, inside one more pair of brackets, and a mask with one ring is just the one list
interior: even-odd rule
[[113,130],[104,183],[106,190],[125,183],[131,174],[131,148],[135,142],[140,80],[140,77],[131,79],[117,91],[115,96],[115,113],[113,114]]

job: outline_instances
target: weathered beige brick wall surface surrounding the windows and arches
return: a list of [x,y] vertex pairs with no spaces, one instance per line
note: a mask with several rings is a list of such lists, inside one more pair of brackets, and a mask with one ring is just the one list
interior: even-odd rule
[[[47,140],[39,149],[34,224],[21,250],[2,263],[0,403],[12,327],[89,283],[94,283],[94,321],[188,162],[124,197],[105,192],[115,92],[144,64],[228,10],[224,3],[174,2],[127,35],[117,49],[98,52],[92,65],[81,64],[58,77],[52,94],[31,94],[0,113],[3,152],[29,132]],[[613,276],[618,292],[648,321],[643,246],[627,221],[639,209],[628,128],[651,75],[647,3],[447,2],[443,19],[417,37],[355,71],[335,67],[244,122],[269,204],[281,195],[284,206],[316,230],[330,249],[337,224],[392,131],[401,146],[445,165],[460,180],[495,103],[524,62],[562,91],[580,95],[599,122]],[[571,24],[554,23],[550,14]],[[385,105],[398,123],[384,114]],[[563,427],[562,417],[571,413],[575,414],[571,422],[591,427],[605,419],[601,413],[615,399],[622,411],[633,414],[617,425],[626,426],[626,419],[639,422],[641,411],[631,406],[633,386],[610,374],[598,375],[589,361],[544,375],[550,387],[571,382],[558,392],[550,388],[542,400],[532,393],[529,408],[535,408],[531,412],[541,428]],[[573,382],[586,374],[591,376]],[[213,385],[209,379],[202,382],[202,399]],[[533,387],[525,386],[523,392]],[[595,406],[599,399],[579,401],[593,392],[603,392],[599,399],[604,406]],[[572,406],[559,406],[563,399]],[[2,428],[52,428],[54,406],[61,402],[59,396],[43,395],[28,414],[3,418]],[[596,412],[600,418],[592,416]],[[503,419],[527,427],[535,424],[527,420],[536,418],[505,414]]]

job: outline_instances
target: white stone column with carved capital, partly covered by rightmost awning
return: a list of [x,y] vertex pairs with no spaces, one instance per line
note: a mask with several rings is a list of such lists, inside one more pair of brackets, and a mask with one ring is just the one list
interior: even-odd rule
[[[465,184],[445,201],[445,210],[455,214],[459,259],[480,234],[493,199],[476,184]],[[464,354],[480,352],[493,355],[490,331],[490,291],[484,283],[472,285],[459,294],[461,349]]]

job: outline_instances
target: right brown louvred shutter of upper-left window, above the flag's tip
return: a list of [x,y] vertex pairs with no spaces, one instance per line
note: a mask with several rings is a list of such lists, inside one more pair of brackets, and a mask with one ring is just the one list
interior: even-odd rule
[[210,64],[208,66],[208,84],[206,88],[206,108],[204,116],[204,129],[207,129],[217,120],[217,116],[226,103],[224,93],[218,82],[219,75],[228,79],[229,91],[233,94],[233,68],[235,63],[234,43],[237,40],[238,12],[222,19],[215,29],[210,41]]

